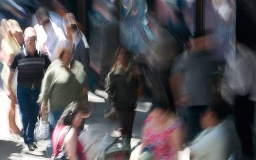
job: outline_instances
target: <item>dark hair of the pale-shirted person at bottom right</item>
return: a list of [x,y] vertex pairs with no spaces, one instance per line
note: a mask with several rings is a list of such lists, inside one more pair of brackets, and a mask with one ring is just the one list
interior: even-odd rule
[[231,109],[224,101],[218,101],[210,105],[208,108],[213,111],[219,119],[224,119]]

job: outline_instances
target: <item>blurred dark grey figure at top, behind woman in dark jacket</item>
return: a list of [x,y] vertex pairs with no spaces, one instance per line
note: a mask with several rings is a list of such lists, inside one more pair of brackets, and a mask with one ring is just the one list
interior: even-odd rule
[[88,13],[91,68],[96,83],[103,87],[119,45],[119,22],[113,15],[115,6],[110,1],[93,0],[91,8]]

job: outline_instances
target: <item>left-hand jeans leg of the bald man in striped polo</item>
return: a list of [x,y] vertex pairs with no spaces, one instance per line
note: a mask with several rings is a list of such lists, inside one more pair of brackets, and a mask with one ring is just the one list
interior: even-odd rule
[[23,130],[22,130],[22,136],[24,138],[25,144],[29,144],[27,141],[27,126],[29,122],[29,101],[30,101],[30,96],[28,93],[28,89],[24,88],[20,85],[17,86],[17,100],[20,106],[20,111],[21,111],[21,121],[23,125]]

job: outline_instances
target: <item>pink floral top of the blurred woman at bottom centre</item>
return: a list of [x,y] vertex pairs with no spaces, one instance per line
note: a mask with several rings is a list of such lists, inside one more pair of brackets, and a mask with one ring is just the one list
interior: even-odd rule
[[153,160],[173,160],[176,153],[173,150],[173,146],[171,146],[170,135],[177,128],[183,126],[183,122],[180,118],[178,118],[171,126],[165,131],[154,133],[152,132],[152,126],[150,123],[151,117],[149,116],[145,120],[145,138],[144,141],[146,146],[144,150],[149,150],[153,156]]

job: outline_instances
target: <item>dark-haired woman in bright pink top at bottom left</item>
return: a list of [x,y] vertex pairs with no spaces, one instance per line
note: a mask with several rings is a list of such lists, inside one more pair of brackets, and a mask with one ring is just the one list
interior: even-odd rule
[[75,101],[65,107],[53,130],[53,157],[60,160],[86,160],[78,139],[83,114],[83,108]]

